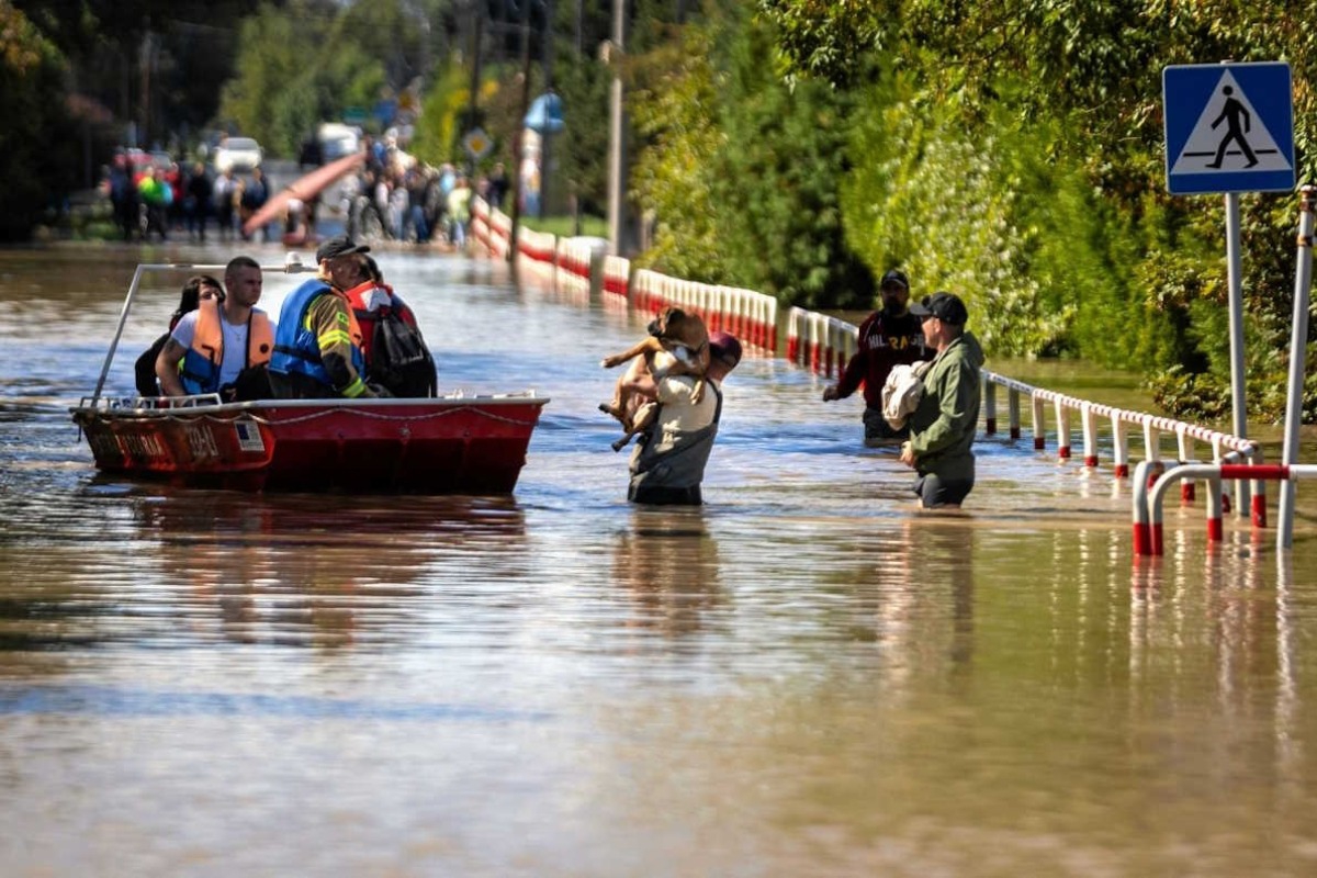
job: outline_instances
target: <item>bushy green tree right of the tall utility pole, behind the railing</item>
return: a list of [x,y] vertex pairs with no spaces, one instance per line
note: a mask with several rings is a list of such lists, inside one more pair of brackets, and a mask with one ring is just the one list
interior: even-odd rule
[[848,95],[780,82],[770,29],[738,4],[682,32],[645,58],[632,100],[653,141],[633,172],[657,217],[653,259],[785,303],[868,305],[873,275],[842,228]]

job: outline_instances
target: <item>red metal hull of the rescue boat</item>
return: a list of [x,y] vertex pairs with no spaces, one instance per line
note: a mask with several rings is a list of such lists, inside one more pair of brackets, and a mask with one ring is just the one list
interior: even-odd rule
[[511,494],[545,403],[101,399],[71,415],[105,473],[245,491]]

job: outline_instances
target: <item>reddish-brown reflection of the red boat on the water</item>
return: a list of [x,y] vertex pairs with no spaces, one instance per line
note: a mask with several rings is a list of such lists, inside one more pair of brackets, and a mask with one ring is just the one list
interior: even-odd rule
[[439,553],[525,537],[511,498],[179,492],[138,511],[162,577],[194,595],[196,634],[320,649],[396,642]]

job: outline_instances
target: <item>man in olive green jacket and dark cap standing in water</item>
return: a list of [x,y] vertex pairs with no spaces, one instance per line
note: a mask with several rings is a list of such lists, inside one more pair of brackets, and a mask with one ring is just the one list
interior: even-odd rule
[[979,429],[984,351],[965,332],[969,312],[959,296],[938,292],[910,305],[923,321],[925,342],[938,351],[923,376],[923,398],[910,416],[910,440],[901,462],[919,478],[914,492],[926,509],[959,508],[975,487],[975,433]]

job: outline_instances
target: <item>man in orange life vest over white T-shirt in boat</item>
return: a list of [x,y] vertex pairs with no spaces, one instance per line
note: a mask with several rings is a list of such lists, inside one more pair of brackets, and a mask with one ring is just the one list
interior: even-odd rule
[[227,401],[269,396],[265,366],[274,351],[275,326],[255,307],[261,266],[234,257],[224,269],[223,300],[208,299],[179,319],[155,358],[166,396],[220,394]]

